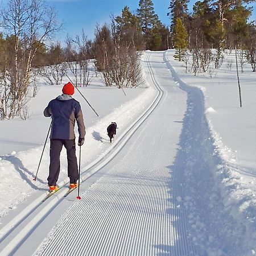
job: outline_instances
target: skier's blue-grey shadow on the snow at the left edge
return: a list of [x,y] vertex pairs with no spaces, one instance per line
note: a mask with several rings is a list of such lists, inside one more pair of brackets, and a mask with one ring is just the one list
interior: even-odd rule
[[[10,155],[10,156],[2,156],[2,159],[11,162],[11,164],[13,164],[15,170],[18,171],[20,177],[23,180],[26,180],[27,183],[30,184],[31,188],[34,188],[34,189],[40,188],[40,187],[36,186],[35,184],[33,184],[33,181],[32,181],[32,179],[30,179],[30,177],[27,177],[27,175],[30,175],[31,177],[34,177],[35,175],[23,166],[23,163],[19,158],[17,158],[16,156]],[[41,179],[36,179],[36,180],[38,180],[42,184],[47,184],[45,181],[43,181]]]

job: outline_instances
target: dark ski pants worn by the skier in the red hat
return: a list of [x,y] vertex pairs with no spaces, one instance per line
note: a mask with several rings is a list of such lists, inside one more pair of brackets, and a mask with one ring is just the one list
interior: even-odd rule
[[51,139],[48,185],[56,185],[59,178],[60,152],[63,145],[67,150],[70,183],[76,183],[79,178],[75,139]]

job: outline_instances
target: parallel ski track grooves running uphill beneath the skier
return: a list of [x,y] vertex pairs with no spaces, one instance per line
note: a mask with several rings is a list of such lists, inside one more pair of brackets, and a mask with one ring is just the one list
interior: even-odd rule
[[[106,153],[105,159],[104,156],[101,156],[100,158],[96,159],[93,163],[88,165],[88,168],[82,174],[85,174],[81,177],[80,183],[82,181],[85,181],[88,179],[88,177],[96,174],[97,171],[99,171],[102,167],[104,167],[107,163],[110,162],[114,158],[115,155],[121,150],[121,148],[129,141],[130,137],[134,134],[134,132],[138,129],[139,126],[147,119],[147,117],[152,113],[152,111],[156,108],[156,106],[159,104],[160,100],[163,97],[163,90],[160,88],[158,83],[155,80],[154,73],[152,72],[151,65],[149,63],[149,56],[150,53],[146,53],[146,62],[148,66],[148,70],[150,71],[150,76],[153,84],[155,85],[155,88],[158,90],[158,94],[155,97],[154,101],[148,108],[144,111],[144,113],[137,118],[131,125],[123,131],[123,133],[119,136],[118,139],[115,141],[115,146]],[[103,162],[101,163],[101,160]],[[98,164],[100,162],[100,164]],[[94,166],[98,166],[96,168],[93,168]],[[92,169],[92,170],[90,170]],[[25,225],[22,228],[22,231],[17,234],[14,238],[11,238],[11,242],[8,243],[8,245],[0,252],[0,256],[3,255],[10,255],[14,251],[17,250],[17,247],[20,246],[20,244],[23,242],[23,240],[26,240],[28,236],[30,236],[31,232],[36,228],[36,226],[39,225],[39,223],[47,216],[51,210],[60,203],[62,199],[64,199],[65,193],[67,193],[68,188],[65,187],[68,182],[65,180],[63,183],[59,185],[60,189],[57,191],[54,195],[49,197],[46,201],[42,201],[44,197],[46,197],[46,194],[43,194],[39,196],[37,199],[31,202],[30,205],[26,207],[22,212],[20,212],[12,221],[10,221],[8,224],[3,226],[3,228],[0,230],[0,243],[7,240],[9,236],[15,232],[15,229],[18,226],[23,225],[23,222],[28,221],[28,224]],[[31,218],[31,215],[40,207],[40,205],[44,205],[43,209],[36,214],[36,216]]]

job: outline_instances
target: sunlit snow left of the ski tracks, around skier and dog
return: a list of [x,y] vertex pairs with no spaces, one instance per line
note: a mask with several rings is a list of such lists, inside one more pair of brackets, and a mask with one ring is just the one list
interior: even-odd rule
[[[31,112],[33,112],[31,119],[27,121],[14,119],[0,123],[3,131],[0,139],[1,144],[3,144],[1,151],[5,152],[0,157],[2,181],[0,184],[0,191],[2,191],[0,217],[16,208],[20,201],[26,200],[28,195],[35,193],[38,189],[47,189],[49,139],[40,164],[37,181],[34,182],[32,179],[36,174],[43,152],[43,143],[51,123],[49,118],[43,116],[43,110],[52,98],[61,93],[61,88],[62,86],[41,86],[38,97],[33,98],[30,102]],[[121,134],[138,115],[144,112],[144,108],[150,104],[156,95],[156,92],[151,88],[136,88],[127,89],[126,96],[124,96],[121,90],[102,87],[100,82],[98,85],[80,88],[80,91],[84,93],[100,115],[97,117],[81,96],[75,93],[74,97],[81,103],[86,126],[86,143],[82,147],[82,166],[97,162],[99,158],[111,150],[113,145],[109,143],[106,127],[112,121],[117,122],[118,134]],[[142,100],[137,97],[138,95],[141,95]],[[18,130],[18,133],[15,130]],[[7,142],[5,142],[5,138],[7,138]],[[16,152],[20,148],[24,151]],[[27,150],[27,148],[30,149]],[[62,184],[61,182],[65,179],[67,179],[67,157],[63,150],[61,152],[59,184]]]

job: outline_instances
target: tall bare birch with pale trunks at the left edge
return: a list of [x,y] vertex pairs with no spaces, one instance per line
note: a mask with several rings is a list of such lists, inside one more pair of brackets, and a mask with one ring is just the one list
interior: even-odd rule
[[7,69],[11,93],[8,117],[13,118],[20,115],[27,103],[36,52],[61,26],[57,24],[53,9],[42,0],[9,0],[7,9],[1,11],[1,19],[12,53]]

